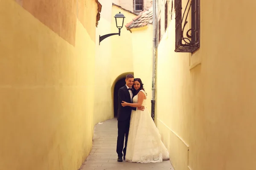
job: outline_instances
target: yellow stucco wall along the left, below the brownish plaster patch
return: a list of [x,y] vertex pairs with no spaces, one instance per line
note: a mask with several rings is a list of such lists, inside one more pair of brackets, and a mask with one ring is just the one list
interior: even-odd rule
[[76,19],[73,45],[14,0],[0,0],[0,25],[0,169],[79,169],[92,147],[95,32]]

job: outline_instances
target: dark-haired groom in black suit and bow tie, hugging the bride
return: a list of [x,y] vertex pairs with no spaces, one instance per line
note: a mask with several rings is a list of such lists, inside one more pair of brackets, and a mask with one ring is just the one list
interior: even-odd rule
[[[118,112],[117,112],[117,128],[118,128],[118,137],[116,144],[116,152],[118,155],[117,161],[122,162],[122,156],[126,154],[126,146],[128,141],[128,133],[130,127],[130,119],[131,119],[131,110],[136,111],[144,110],[144,106],[141,108],[133,108],[130,106],[122,107],[122,101],[132,103],[132,85],[134,84],[134,76],[132,74],[128,74],[125,78],[125,86],[119,88],[118,90]],[[125,148],[124,148],[124,140],[125,140]],[[123,154],[124,153],[124,154]]]

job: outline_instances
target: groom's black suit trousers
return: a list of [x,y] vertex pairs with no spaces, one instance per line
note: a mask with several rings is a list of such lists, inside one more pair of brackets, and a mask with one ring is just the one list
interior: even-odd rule
[[[116,144],[116,153],[118,156],[122,157],[123,155],[125,156],[126,154],[128,134],[129,134],[129,128],[130,128],[130,119],[118,121],[117,128],[118,128],[118,136],[117,136],[117,144]],[[124,141],[125,141],[125,147],[124,147]],[[124,154],[122,154],[122,152]]]

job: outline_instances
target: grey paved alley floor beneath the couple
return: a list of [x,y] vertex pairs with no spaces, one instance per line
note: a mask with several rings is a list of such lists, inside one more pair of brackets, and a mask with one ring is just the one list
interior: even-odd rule
[[174,170],[170,161],[160,163],[117,162],[117,120],[95,126],[93,148],[80,170]]

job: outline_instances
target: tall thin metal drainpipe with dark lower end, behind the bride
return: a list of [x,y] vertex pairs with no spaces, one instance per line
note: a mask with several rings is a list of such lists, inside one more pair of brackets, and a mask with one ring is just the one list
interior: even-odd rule
[[152,69],[152,99],[151,99],[151,117],[154,120],[155,113],[155,94],[156,94],[156,58],[157,58],[157,14],[156,3],[153,0],[153,69]]

